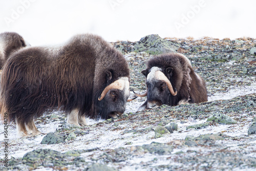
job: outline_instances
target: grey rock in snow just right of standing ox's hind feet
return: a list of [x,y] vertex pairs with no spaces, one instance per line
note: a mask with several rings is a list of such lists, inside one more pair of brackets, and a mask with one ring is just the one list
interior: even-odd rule
[[65,136],[59,133],[48,133],[42,138],[41,144],[58,144],[64,142]]

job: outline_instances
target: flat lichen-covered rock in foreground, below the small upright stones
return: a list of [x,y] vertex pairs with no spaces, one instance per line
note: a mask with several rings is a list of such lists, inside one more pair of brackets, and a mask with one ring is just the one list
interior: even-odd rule
[[170,154],[174,149],[172,145],[159,142],[152,142],[151,144],[142,145],[142,148],[148,153],[159,155]]

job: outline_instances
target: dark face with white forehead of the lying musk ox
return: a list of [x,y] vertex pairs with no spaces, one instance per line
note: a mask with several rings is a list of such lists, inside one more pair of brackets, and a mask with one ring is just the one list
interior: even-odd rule
[[169,78],[172,76],[173,69],[165,70],[153,67],[150,70],[143,70],[142,74],[146,77],[147,85],[147,109],[157,108],[162,104],[170,105],[170,96],[175,96],[177,91],[173,89]]

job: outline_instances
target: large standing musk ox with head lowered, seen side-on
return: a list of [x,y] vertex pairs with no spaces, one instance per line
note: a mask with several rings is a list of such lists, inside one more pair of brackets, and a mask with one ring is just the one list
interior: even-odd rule
[[34,117],[55,107],[66,112],[68,123],[83,126],[85,116],[122,115],[129,86],[123,55],[97,35],[80,34],[61,47],[30,47],[11,55],[1,78],[1,114],[16,121],[20,136],[41,134]]

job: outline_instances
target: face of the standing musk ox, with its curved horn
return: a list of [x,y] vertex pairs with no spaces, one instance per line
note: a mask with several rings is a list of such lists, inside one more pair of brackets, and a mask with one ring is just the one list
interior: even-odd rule
[[[110,78],[108,77],[110,81]],[[130,96],[129,78],[121,77],[107,86],[98,97],[99,116],[102,119],[117,118],[125,111]]]

